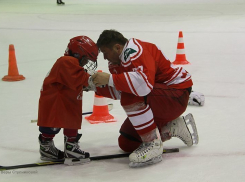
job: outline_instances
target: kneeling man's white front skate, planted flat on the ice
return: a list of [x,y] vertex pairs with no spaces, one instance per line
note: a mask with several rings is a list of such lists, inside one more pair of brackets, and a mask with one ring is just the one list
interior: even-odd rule
[[160,139],[142,143],[129,155],[130,167],[142,167],[162,161],[163,144]]

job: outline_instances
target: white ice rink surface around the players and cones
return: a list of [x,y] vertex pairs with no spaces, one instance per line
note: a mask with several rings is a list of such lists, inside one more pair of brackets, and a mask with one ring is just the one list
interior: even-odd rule
[[[104,29],[157,44],[174,61],[178,32],[183,31],[193,90],[206,97],[203,107],[188,106],[200,141],[159,164],[132,169],[128,159],[79,166],[47,166],[0,171],[1,182],[243,182],[245,181],[245,1],[244,0],[0,0],[0,76],[8,73],[8,46],[14,44],[19,82],[0,81],[0,165],[41,162],[37,118],[46,73],[63,55],[70,38],[97,41]],[[99,69],[108,71],[102,55]],[[92,111],[94,94],[84,93],[83,111]],[[110,112],[116,123],[91,125],[83,120],[81,148],[91,156],[115,154],[118,130],[126,115],[118,101]],[[164,108],[163,108],[164,109]],[[63,148],[63,132],[55,138]],[[25,173],[26,172],[26,173]],[[32,174],[30,174],[32,173]]]

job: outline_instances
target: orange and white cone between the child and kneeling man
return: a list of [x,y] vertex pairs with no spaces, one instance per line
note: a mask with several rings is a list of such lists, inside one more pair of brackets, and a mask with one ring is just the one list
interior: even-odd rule
[[95,94],[93,113],[85,117],[91,124],[115,122],[116,119],[109,114],[108,104],[105,97]]

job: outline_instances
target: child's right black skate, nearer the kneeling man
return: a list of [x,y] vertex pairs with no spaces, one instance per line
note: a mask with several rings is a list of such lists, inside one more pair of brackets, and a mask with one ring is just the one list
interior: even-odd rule
[[65,136],[65,162],[67,165],[83,164],[90,161],[89,153],[80,150],[78,140],[81,138],[81,134],[78,134],[74,142],[68,142],[68,137]]

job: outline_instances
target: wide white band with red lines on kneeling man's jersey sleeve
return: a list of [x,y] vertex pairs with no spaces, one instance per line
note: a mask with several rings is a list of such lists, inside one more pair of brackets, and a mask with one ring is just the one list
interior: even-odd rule
[[145,96],[151,92],[153,86],[147,80],[146,75],[141,72],[126,72],[124,76],[127,80],[131,92],[137,96]]

